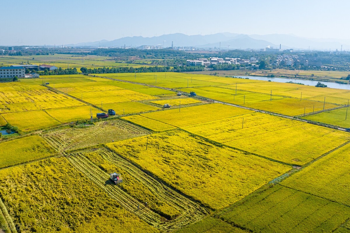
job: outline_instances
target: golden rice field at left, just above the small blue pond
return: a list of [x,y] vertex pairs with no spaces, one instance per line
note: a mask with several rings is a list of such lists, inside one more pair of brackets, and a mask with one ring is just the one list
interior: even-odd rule
[[59,125],[58,121],[43,110],[3,113],[1,115],[8,123],[17,126],[24,132]]

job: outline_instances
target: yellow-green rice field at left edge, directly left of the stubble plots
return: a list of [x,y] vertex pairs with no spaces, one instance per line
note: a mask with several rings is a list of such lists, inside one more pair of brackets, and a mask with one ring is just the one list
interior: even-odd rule
[[0,143],[0,168],[56,155],[40,136],[28,136]]

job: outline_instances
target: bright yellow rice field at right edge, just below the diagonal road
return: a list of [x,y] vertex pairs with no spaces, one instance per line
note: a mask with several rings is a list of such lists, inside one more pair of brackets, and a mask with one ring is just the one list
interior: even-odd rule
[[349,140],[349,133],[303,124],[225,144],[285,163],[304,165]]

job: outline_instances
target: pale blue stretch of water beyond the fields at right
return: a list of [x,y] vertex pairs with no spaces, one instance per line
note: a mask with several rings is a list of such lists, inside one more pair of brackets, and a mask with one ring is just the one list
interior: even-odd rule
[[[264,77],[264,76],[236,76],[240,78],[249,78],[253,80],[262,80],[262,81],[268,81],[271,80],[272,82],[279,82],[279,83],[286,83],[286,82],[294,82],[294,83],[303,83],[305,85],[309,86],[315,86],[318,81],[315,80],[306,80],[306,79],[298,79],[298,78],[280,78],[280,77]],[[334,83],[334,82],[321,82],[329,88],[337,88],[337,89],[345,89],[350,90],[349,84],[342,84],[342,83]]]

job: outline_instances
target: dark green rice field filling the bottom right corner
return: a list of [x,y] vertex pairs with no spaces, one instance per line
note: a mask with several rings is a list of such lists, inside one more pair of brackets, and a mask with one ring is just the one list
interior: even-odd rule
[[249,232],[334,232],[349,215],[348,206],[275,185],[217,217]]

